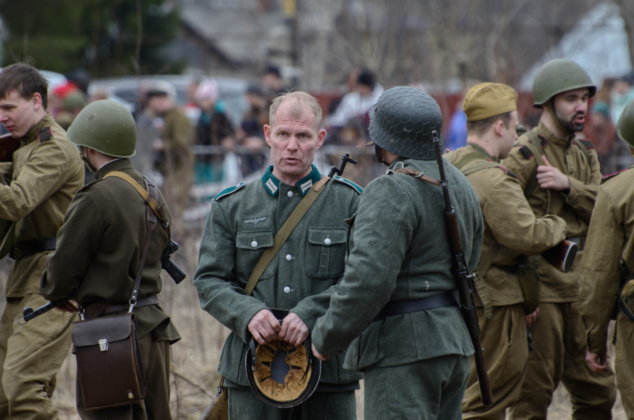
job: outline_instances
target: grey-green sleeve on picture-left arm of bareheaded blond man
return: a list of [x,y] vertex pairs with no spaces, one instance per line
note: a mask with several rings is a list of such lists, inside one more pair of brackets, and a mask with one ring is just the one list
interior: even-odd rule
[[249,321],[268,306],[245,295],[243,287],[238,285],[235,277],[235,237],[220,204],[216,200],[212,201],[200,241],[198,269],[193,283],[198,290],[200,306],[245,343],[249,343]]

